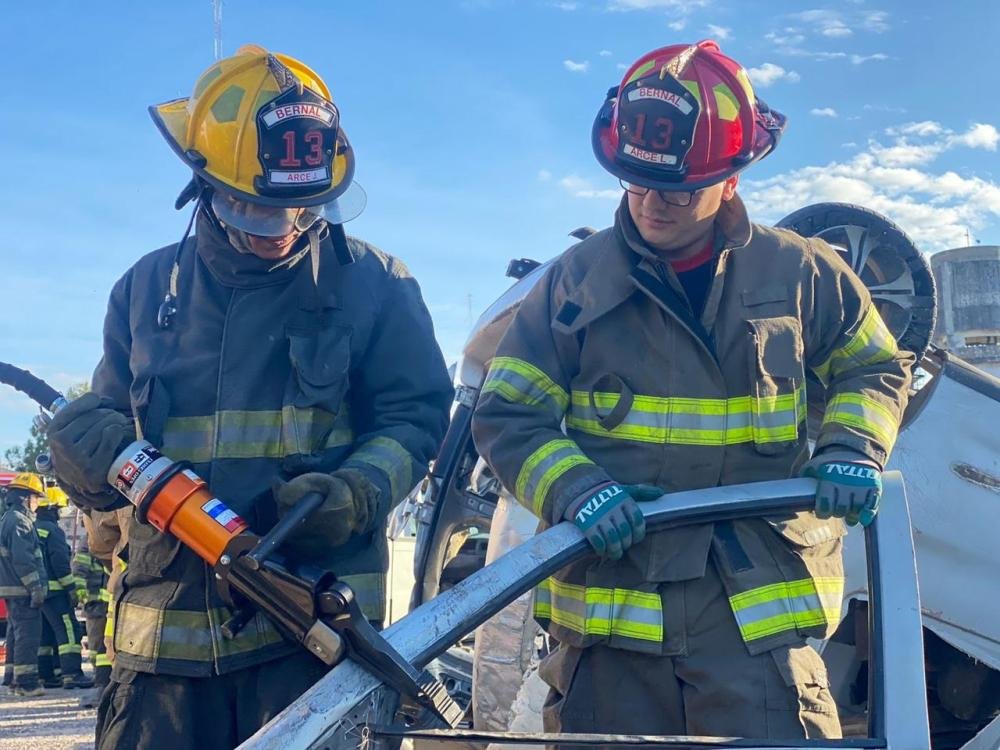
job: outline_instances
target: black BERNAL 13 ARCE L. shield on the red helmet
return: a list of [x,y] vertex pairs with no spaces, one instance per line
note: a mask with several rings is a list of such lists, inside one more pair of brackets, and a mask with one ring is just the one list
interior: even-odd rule
[[665,70],[627,84],[618,94],[619,162],[637,175],[651,172],[653,179],[689,189],[684,157],[700,113],[698,99]]

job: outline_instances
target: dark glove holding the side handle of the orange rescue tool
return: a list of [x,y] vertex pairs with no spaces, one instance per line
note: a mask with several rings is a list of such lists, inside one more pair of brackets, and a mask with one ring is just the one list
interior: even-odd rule
[[331,547],[339,547],[351,534],[367,531],[375,518],[379,490],[354,469],[332,474],[312,472],[280,485],[274,491],[278,516],[284,516],[310,492],[323,495],[323,504],[285,542],[305,557],[319,557]]

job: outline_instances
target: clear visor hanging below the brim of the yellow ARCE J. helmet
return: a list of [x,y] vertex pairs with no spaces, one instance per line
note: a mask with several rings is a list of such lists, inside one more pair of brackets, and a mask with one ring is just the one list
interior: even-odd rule
[[364,211],[367,196],[356,182],[352,182],[340,197],[318,206],[280,208],[234,198],[215,190],[212,193],[212,211],[228,227],[258,237],[286,237],[305,232],[317,221],[343,224]]

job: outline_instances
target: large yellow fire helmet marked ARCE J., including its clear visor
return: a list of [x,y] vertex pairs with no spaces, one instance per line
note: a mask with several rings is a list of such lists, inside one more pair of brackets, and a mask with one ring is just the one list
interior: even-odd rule
[[330,90],[292,57],[246,45],[202,73],[190,97],[149,112],[214,188],[212,208],[225,224],[280,235],[290,222],[342,224],[364,209]]

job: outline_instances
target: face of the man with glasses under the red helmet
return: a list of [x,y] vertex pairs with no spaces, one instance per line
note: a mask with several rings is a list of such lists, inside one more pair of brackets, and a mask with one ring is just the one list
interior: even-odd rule
[[736,182],[736,177],[730,177],[702,188],[694,193],[687,206],[667,203],[655,190],[645,195],[629,192],[629,213],[648,245],[667,256],[682,257],[688,251],[697,252],[704,247],[722,201],[729,200],[736,192]]

